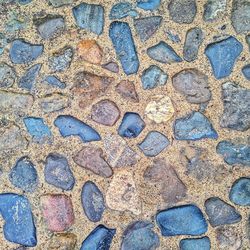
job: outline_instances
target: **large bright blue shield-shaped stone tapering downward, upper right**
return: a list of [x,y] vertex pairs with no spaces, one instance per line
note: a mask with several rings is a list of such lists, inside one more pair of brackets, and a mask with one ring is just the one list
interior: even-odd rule
[[222,41],[210,43],[205,49],[216,79],[231,74],[235,61],[243,49],[242,44],[230,36]]

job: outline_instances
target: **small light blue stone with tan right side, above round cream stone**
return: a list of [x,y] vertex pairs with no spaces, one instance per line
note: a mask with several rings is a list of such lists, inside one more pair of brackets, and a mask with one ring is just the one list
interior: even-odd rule
[[143,89],[153,89],[157,86],[166,84],[168,75],[164,73],[158,66],[151,65],[148,69],[142,72],[142,87]]

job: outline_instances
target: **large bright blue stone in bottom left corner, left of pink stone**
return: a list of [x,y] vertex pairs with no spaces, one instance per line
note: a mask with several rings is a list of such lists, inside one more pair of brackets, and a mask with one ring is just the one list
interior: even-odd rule
[[3,232],[8,241],[27,247],[36,246],[36,227],[30,203],[25,196],[0,194],[0,214],[5,221]]

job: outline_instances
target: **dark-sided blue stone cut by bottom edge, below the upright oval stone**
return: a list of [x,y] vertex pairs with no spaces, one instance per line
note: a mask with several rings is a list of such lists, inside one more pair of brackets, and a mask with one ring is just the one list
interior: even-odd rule
[[116,229],[97,226],[83,241],[80,250],[109,250]]

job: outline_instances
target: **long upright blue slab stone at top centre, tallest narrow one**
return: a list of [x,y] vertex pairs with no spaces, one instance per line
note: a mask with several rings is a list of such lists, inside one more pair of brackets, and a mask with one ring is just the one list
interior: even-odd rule
[[112,22],[109,28],[109,37],[125,74],[136,73],[140,63],[129,25],[125,22]]

